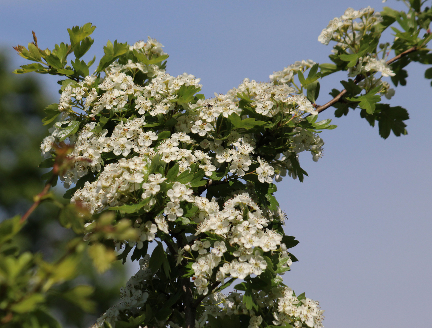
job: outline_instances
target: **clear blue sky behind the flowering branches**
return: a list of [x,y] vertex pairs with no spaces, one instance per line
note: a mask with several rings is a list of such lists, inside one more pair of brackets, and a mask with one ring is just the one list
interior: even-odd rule
[[[8,49],[32,41],[32,30],[41,48],[53,48],[69,40],[68,27],[86,22],[98,27],[89,51],[97,58],[107,39],[133,43],[150,35],[170,54],[168,73],[200,77],[207,97],[245,77],[266,81],[296,60],[328,62],[330,46],[317,41],[328,21],[349,6],[383,6],[377,0],[0,4],[0,45]],[[396,1],[385,5],[403,8]],[[14,64],[25,64],[21,59],[14,56]],[[309,178],[278,184],[286,233],[300,241],[292,249],[300,261],[284,282],[321,302],[327,328],[430,326],[432,89],[426,68],[410,64],[407,86],[397,87],[390,101],[410,112],[407,136],[383,140],[358,110],[350,112],[334,120],[337,129],[321,134],[325,154],[318,163],[301,157]],[[40,77],[58,99],[55,78]],[[330,89],[341,89],[344,78],[324,79],[318,103],[330,99]],[[320,118],[333,113],[330,108]]]

